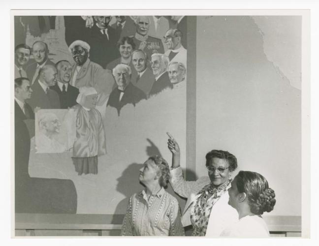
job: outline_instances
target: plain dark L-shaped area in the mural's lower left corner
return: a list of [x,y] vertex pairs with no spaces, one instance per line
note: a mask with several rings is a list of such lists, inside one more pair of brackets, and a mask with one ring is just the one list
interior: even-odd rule
[[30,135],[15,114],[15,213],[76,214],[77,193],[71,180],[30,177]]

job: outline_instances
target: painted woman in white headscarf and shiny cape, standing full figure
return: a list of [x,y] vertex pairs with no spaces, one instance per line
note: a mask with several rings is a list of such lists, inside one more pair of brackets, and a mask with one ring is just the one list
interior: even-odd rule
[[106,154],[102,116],[95,107],[98,94],[93,87],[81,87],[73,106],[76,116],[76,140],[72,161],[79,174],[97,174],[97,156]]

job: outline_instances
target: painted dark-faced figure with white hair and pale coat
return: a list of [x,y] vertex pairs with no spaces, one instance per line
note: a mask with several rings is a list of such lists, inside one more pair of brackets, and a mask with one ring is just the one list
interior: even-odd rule
[[71,43],[69,51],[74,64],[71,70],[70,85],[76,88],[94,87],[99,95],[97,105],[106,102],[115,83],[111,70],[103,69],[99,64],[89,59],[90,45],[82,40]]

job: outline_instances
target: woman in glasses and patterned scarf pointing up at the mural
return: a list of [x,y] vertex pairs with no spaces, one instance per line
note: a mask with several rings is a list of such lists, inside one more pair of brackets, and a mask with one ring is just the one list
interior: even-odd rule
[[178,143],[167,134],[172,153],[170,183],[177,194],[188,198],[181,218],[183,226],[192,225],[192,236],[219,237],[225,228],[238,221],[238,213],[228,205],[227,192],[230,175],[237,168],[236,157],[227,151],[212,150],[206,154],[209,177],[186,181],[180,167]]

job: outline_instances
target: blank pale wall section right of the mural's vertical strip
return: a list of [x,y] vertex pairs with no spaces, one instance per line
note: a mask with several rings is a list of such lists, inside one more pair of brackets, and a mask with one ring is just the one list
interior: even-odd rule
[[[206,174],[208,151],[228,150],[237,156],[238,170],[261,173],[275,190],[270,215],[301,215],[301,91],[289,74],[282,76],[294,67],[301,71],[301,48],[293,50],[294,61],[287,49],[278,49],[278,43],[298,43],[301,29],[283,32],[277,41],[271,32],[289,21],[300,27],[301,18],[257,18],[197,17],[196,174]],[[280,60],[269,61],[266,52],[280,53]]]

